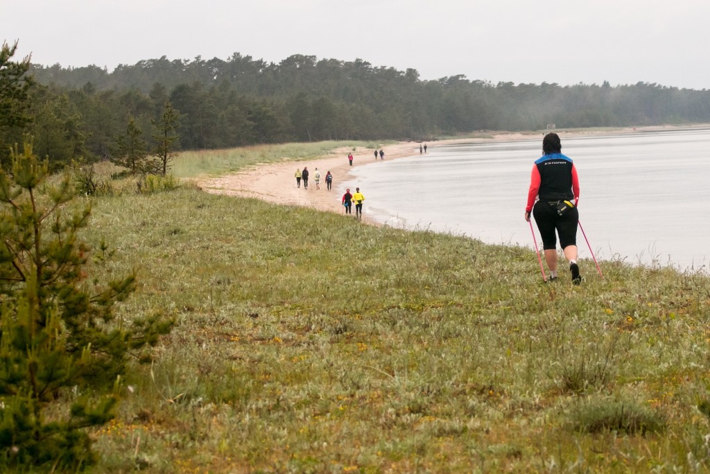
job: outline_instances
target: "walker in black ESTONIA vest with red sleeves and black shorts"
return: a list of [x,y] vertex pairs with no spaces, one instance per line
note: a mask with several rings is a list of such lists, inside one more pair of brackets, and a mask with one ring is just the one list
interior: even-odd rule
[[[535,200],[537,198],[537,201]],[[569,262],[572,284],[579,285],[577,264],[577,224],[579,223],[579,178],[572,158],[562,154],[559,136],[554,133],[542,139],[542,157],[535,161],[530,175],[525,220],[530,212],[540,230],[545,263],[550,280],[557,279],[557,236],[564,258]],[[555,235],[557,232],[557,235]]]

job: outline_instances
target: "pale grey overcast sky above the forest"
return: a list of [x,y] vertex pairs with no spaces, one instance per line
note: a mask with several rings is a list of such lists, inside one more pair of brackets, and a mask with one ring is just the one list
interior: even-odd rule
[[9,0],[0,14],[0,41],[41,65],[304,54],[422,80],[710,89],[708,0]]

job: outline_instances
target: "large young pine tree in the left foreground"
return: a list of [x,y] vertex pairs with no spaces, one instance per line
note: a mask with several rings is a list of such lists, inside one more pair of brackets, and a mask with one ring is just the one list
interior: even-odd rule
[[[156,343],[172,322],[115,321],[135,274],[87,284],[90,249],[78,232],[90,206],[65,215],[70,178],[48,185],[48,162],[28,141],[11,158],[12,174],[0,171],[0,470],[78,470],[94,461],[84,429],[114,416],[129,351]],[[60,397],[71,406],[49,421]]]

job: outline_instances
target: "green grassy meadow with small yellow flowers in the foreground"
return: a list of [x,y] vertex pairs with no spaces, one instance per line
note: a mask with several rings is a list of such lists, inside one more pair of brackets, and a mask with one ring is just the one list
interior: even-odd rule
[[190,188],[101,198],[85,237],[93,276],[138,270],[121,316],[178,321],[96,472],[710,468],[702,274],[543,284],[530,249]]

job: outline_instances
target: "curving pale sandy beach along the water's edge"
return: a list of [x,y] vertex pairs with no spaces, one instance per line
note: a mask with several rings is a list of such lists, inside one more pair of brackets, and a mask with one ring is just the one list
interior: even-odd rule
[[[649,131],[671,131],[683,129],[700,129],[709,128],[707,124],[697,124],[694,126],[644,126],[644,127],[626,127],[623,129],[559,129],[549,130],[559,134],[564,139],[575,138],[579,136],[605,136],[605,135],[621,135],[621,134],[636,134]],[[507,132],[507,131],[486,131],[490,137],[469,137],[461,139],[444,139],[437,141],[427,141],[428,148],[435,146],[454,145],[454,144],[477,144],[489,142],[505,142],[505,141],[520,141],[540,138],[548,131],[535,132]],[[420,156],[420,142],[402,141],[395,144],[382,146],[381,149],[385,152],[385,160],[403,159],[413,156]],[[349,171],[356,166],[377,163],[373,155],[373,149],[358,146],[355,149],[351,147],[343,147],[334,150],[331,154],[316,158],[310,161],[290,161],[288,158],[279,163],[270,163],[256,165],[256,168],[250,168],[245,171],[231,173],[229,175],[219,176],[217,178],[197,178],[197,185],[207,193],[224,194],[231,196],[239,196],[243,198],[257,198],[268,201],[270,203],[282,205],[297,205],[304,208],[312,208],[325,212],[335,212],[343,214],[343,206],[341,203],[342,195],[336,191],[338,183],[351,181]],[[347,155],[353,153],[353,164],[349,166]],[[423,153],[426,154],[426,153]],[[309,179],[309,187],[307,190],[301,185],[296,186],[295,171],[307,167],[310,171],[311,178]],[[313,172],[315,169],[321,172],[320,189],[315,188],[313,180]],[[330,171],[333,175],[332,191],[328,191],[325,184],[325,175]],[[351,190],[351,193],[354,190]],[[366,189],[364,195],[367,197]],[[367,203],[367,201],[366,201]],[[365,208],[366,210],[366,208]],[[362,222],[370,225],[382,225],[367,213],[363,217]]]

